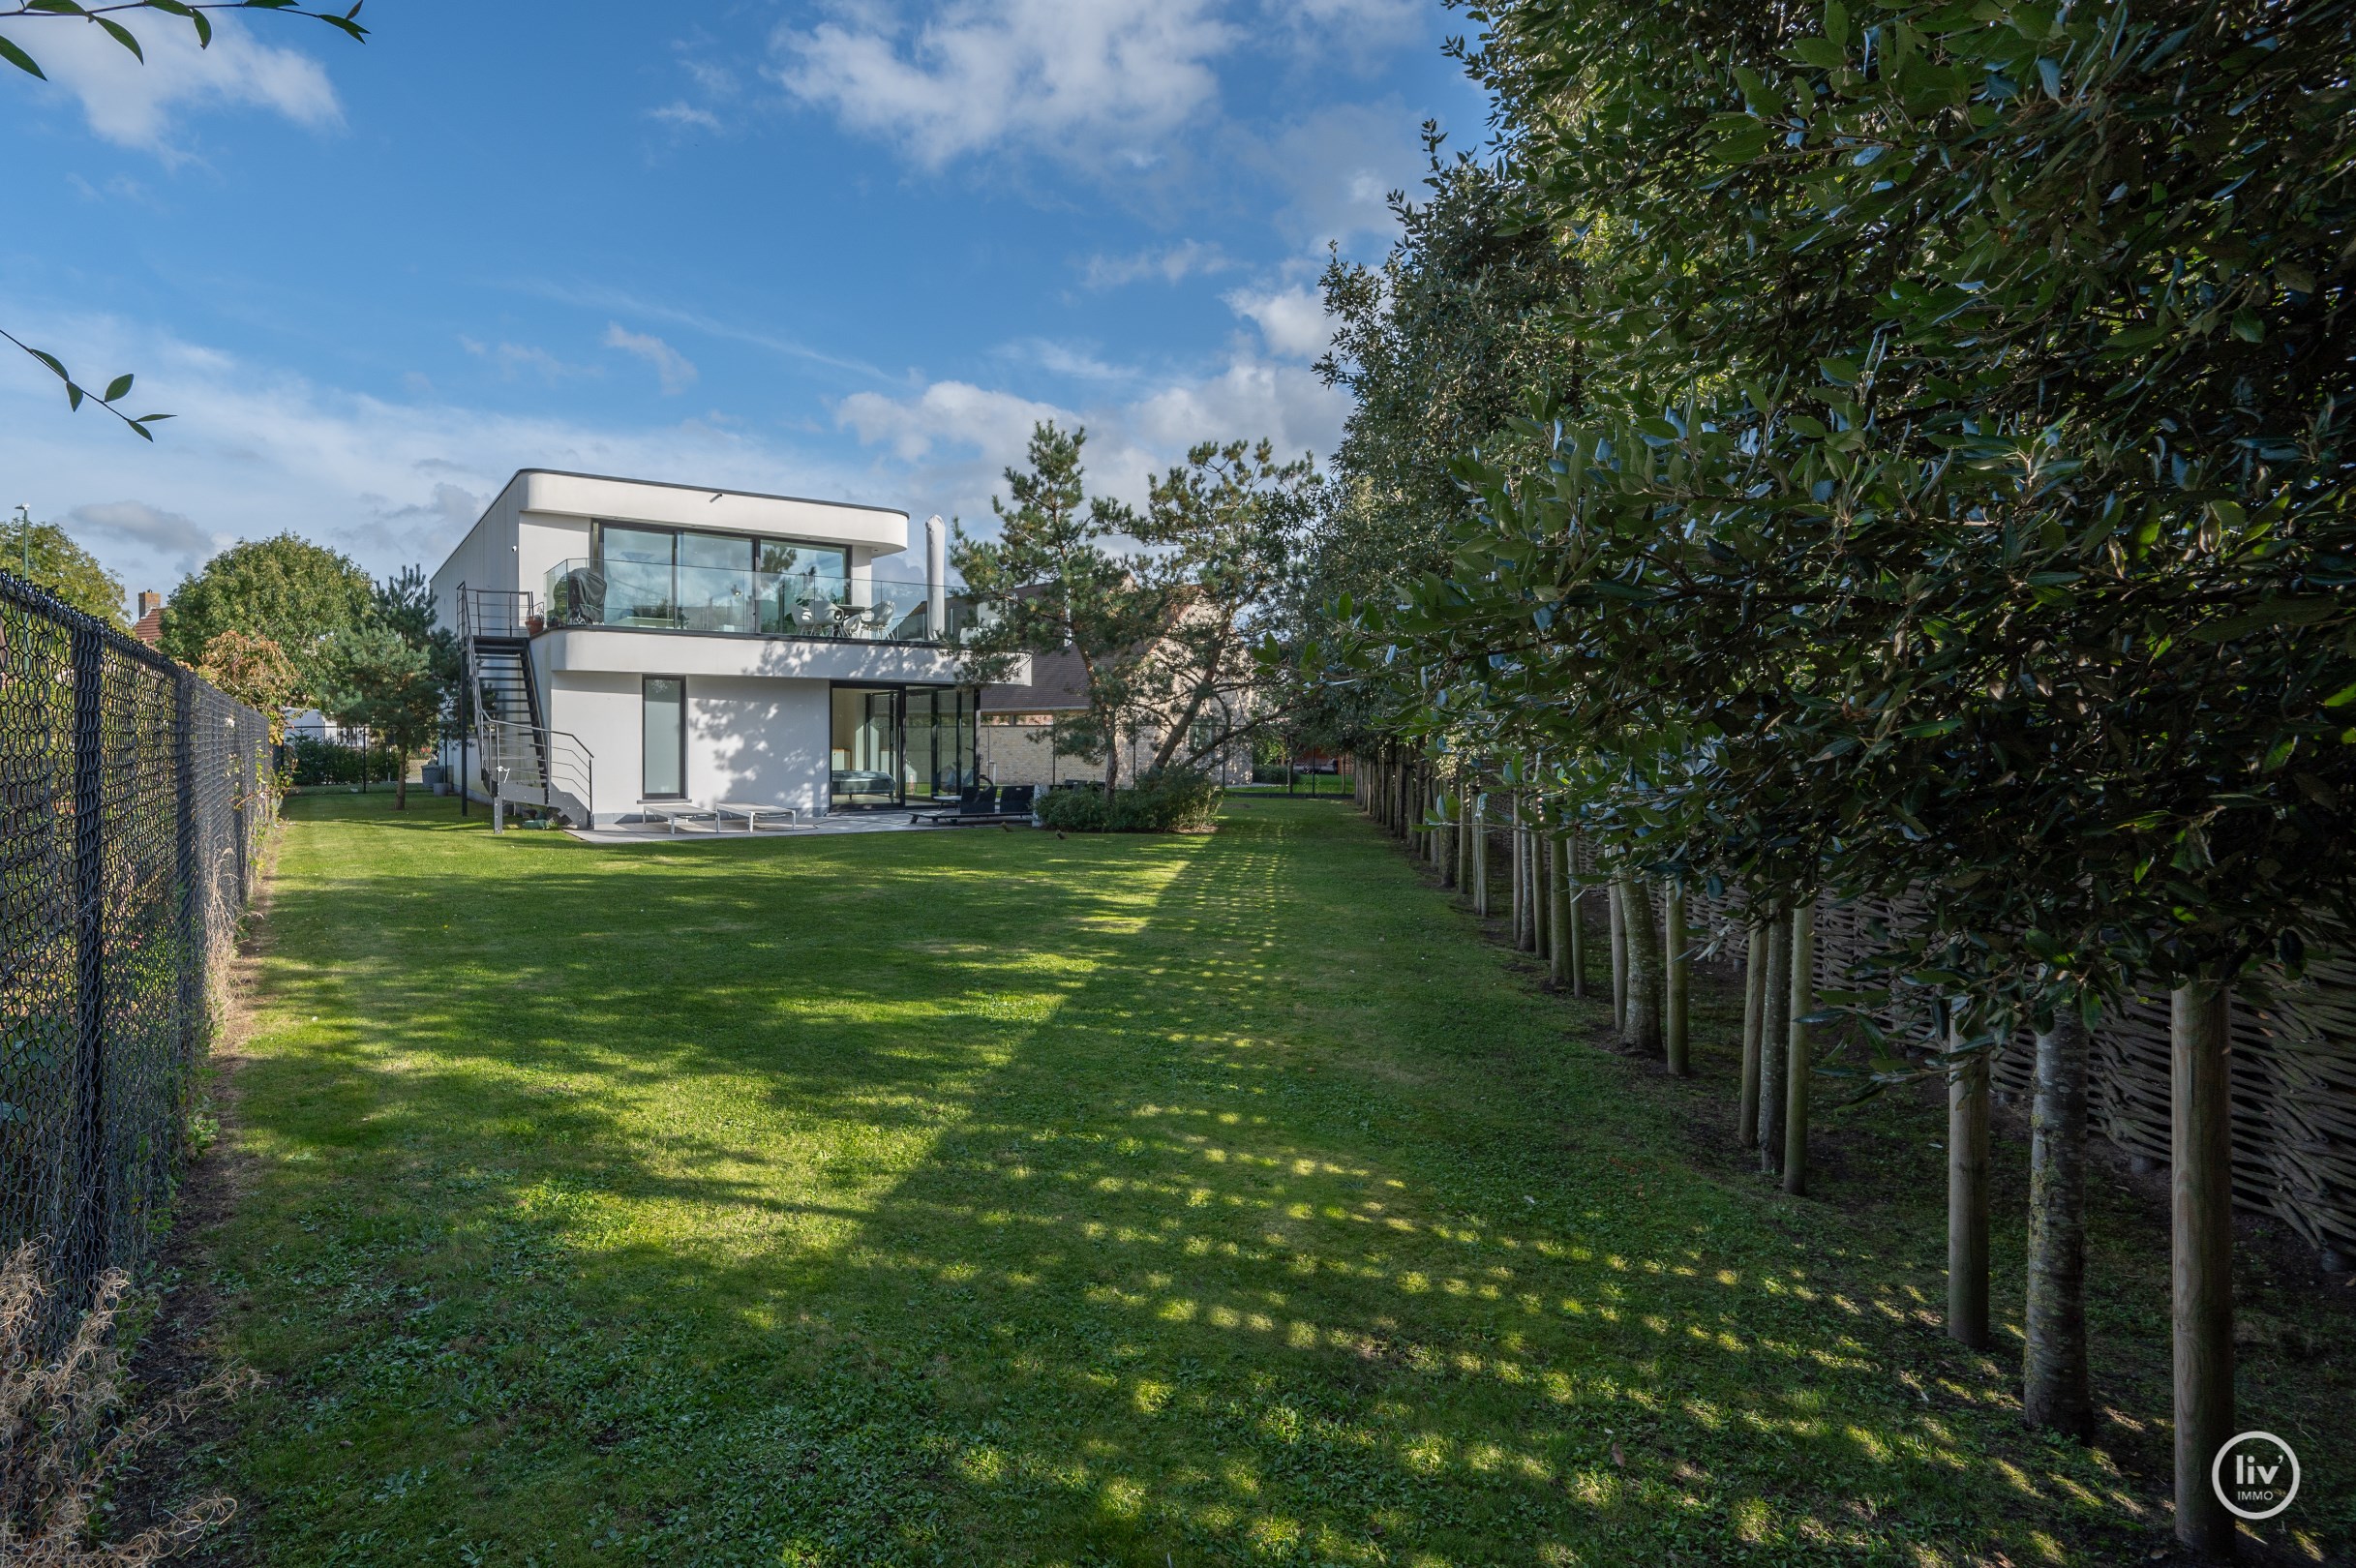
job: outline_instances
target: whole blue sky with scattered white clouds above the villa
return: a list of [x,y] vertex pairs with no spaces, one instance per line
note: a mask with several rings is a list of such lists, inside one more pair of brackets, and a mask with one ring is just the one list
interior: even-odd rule
[[[1331,450],[1326,245],[1484,104],[1425,0],[372,0],[365,45],[12,24],[0,504],[170,591],[292,527],[436,565],[514,469],[987,520],[1034,419],[1140,497]],[[9,351],[14,353],[14,351]]]

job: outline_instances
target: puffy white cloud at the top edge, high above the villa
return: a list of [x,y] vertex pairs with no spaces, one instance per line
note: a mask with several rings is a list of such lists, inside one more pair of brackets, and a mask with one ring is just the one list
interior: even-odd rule
[[1020,146],[1072,162],[1154,160],[1218,97],[1244,40],[1216,0],[949,0],[909,28],[881,7],[780,28],[777,80],[855,132],[940,167]]

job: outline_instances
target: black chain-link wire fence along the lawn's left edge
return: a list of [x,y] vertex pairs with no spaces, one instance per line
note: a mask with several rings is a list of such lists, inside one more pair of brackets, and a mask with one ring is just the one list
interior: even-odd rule
[[276,812],[269,720],[0,572],[0,1250],[148,1260]]

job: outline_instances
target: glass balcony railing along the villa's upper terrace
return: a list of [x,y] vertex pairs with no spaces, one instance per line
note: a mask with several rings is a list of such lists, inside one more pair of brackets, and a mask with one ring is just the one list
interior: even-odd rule
[[558,560],[549,567],[547,605],[551,629],[650,626],[865,643],[954,640],[971,622],[971,607],[952,603],[949,626],[935,633],[921,582],[634,560]]

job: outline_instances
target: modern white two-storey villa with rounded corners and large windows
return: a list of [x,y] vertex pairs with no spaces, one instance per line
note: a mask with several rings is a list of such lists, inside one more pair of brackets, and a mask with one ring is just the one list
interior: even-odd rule
[[573,826],[954,798],[975,692],[940,518],[924,544],[884,506],[525,469],[434,572],[476,695],[443,763]]

